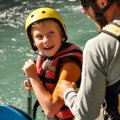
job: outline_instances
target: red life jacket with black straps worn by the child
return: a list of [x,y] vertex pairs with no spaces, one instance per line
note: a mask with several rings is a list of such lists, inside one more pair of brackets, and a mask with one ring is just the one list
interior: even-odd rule
[[[64,48],[59,50],[54,57],[39,56],[36,62],[37,72],[46,88],[51,94],[59,80],[59,72],[63,63],[76,61],[82,66],[82,51],[79,47],[71,43],[65,43]],[[80,79],[78,80],[80,84]],[[70,110],[64,105],[57,113],[57,117],[67,119],[73,117]]]

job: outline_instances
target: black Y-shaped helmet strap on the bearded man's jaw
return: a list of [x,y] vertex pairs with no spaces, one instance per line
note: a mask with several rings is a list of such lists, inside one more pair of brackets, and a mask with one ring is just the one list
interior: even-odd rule
[[115,0],[110,0],[103,9],[100,9],[93,0],[88,0],[88,2],[95,13],[96,22],[100,25],[102,29],[106,24],[108,24],[106,18],[104,17],[104,12],[109,9],[109,7],[113,4],[113,2],[115,2]]

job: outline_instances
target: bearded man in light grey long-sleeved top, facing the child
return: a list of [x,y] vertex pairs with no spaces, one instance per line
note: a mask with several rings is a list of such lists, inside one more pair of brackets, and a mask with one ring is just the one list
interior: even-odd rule
[[97,118],[105,98],[105,120],[120,120],[120,0],[81,0],[81,4],[83,13],[103,30],[85,45],[80,90],[77,93],[74,83],[63,80],[59,96],[64,94],[76,120]]

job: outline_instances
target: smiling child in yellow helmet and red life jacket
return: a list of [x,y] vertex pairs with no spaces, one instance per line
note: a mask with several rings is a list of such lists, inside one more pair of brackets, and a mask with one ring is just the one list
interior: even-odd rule
[[34,10],[26,20],[26,34],[31,48],[39,51],[36,63],[29,59],[23,71],[31,82],[46,118],[72,120],[73,115],[57,96],[61,80],[80,83],[82,51],[66,42],[66,28],[60,14],[52,8]]

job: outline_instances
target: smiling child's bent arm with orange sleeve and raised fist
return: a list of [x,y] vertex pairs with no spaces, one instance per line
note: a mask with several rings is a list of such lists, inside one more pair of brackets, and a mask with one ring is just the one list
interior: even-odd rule
[[[35,95],[47,116],[54,116],[63,106],[64,101],[57,97],[56,89],[53,96],[44,88],[36,70],[36,65],[29,60],[23,67],[27,77],[30,79]],[[80,76],[80,67],[76,62],[67,62],[63,65],[60,74],[60,80],[76,82]],[[73,74],[74,73],[74,74]]]

